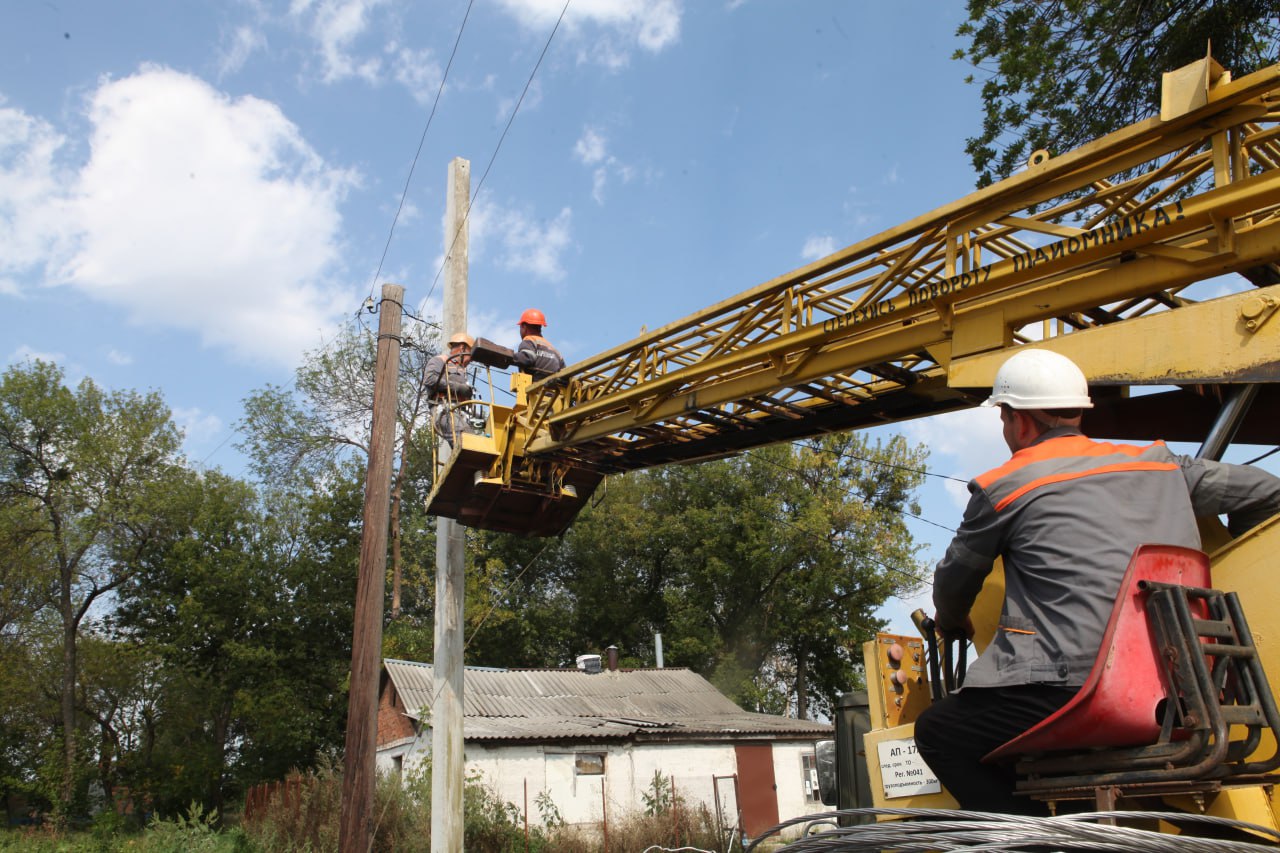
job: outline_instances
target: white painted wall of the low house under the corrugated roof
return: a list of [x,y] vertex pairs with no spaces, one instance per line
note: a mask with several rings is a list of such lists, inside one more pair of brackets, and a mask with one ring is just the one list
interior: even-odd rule
[[[425,747],[425,748],[424,748]],[[421,734],[412,745],[401,745],[378,753],[379,771],[394,767],[399,753],[404,774],[413,772],[430,749],[430,733]],[[773,744],[773,777],[777,784],[778,820],[828,811],[822,803],[805,800],[801,756],[813,752],[812,743]],[[580,775],[575,770],[576,753],[604,753],[604,775]],[[685,802],[705,803],[716,809],[714,776],[733,776],[737,760],[732,744],[620,744],[609,742],[572,745],[488,745],[466,744],[467,776],[480,774],[485,784],[502,799],[522,812],[530,822],[543,822],[536,804],[547,792],[561,817],[570,824],[598,825],[605,802],[609,818],[644,811],[644,795],[652,793],[654,772],[660,772],[669,790],[675,780],[676,794]],[[602,786],[604,790],[602,798]],[[737,824],[733,780],[719,783],[724,820]]]

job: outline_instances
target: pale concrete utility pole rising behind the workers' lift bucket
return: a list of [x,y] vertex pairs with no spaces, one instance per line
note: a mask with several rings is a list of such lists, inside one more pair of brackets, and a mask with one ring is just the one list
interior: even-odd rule
[[[467,205],[471,163],[449,163],[444,202],[444,316],[449,337],[467,330]],[[442,441],[436,435],[438,441]],[[449,448],[452,450],[452,448]],[[439,455],[447,459],[445,453]],[[439,474],[439,471],[436,471]],[[431,853],[462,853],[463,528],[435,519],[435,702],[431,706]]]

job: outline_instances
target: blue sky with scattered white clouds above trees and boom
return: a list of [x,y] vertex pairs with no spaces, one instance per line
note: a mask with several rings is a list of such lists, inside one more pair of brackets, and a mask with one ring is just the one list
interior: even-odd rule
[[[562,8],[475,0],[424,140],[465,0],[9,0],[0,357],[160,391],[241,473],[241,401],[380,283],[438,313],[456,156],[488,170],[471,332],[536,306],[570,362],[973,188],[961,3],[571,0],[498,149]],[[938,474],[1007,456],[986,410],[904,430]],[[924,516],[963,492],[931,478]]]

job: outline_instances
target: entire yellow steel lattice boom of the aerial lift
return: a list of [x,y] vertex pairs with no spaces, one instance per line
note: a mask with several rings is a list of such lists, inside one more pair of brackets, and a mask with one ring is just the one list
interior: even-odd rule
[[[1179,289],[1197,280],[1274,264],[1280,67],[1206,100],[535,383],[522,450],[605,467],[694,459],[692,446],[733,430],[897,406],[895,396],[941,378],[950,357],[1015,343],[1024,323],[1129,320],[1181,305]],[[899,411],[925,414],[915,403]],[[664,443],[672,452],[644,457],[652,462],[627,459]]]

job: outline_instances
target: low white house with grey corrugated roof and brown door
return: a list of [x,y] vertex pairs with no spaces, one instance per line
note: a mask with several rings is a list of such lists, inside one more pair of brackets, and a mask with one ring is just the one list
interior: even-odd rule
[[[824,811],[813,757],[829,725],[744,711],[691,670],[585,657],[575,670],[465,670],[466,772],[530,821],[539,798],[571,824],[641,811],[655,775],[748,835]],[[430,665],[383,661],[379,770],[411,772],[430,754],[433,688]]]

